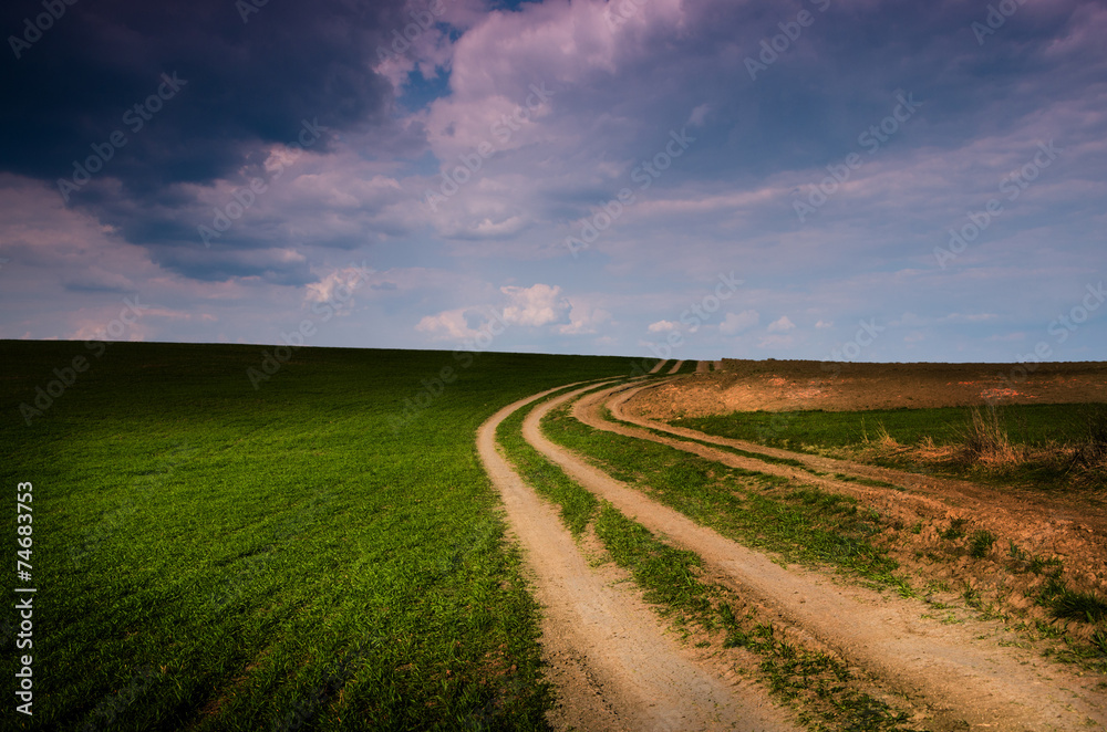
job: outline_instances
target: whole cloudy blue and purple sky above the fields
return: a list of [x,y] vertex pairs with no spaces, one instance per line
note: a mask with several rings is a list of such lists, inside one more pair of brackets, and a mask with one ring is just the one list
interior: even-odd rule
[[1105,2],[10,0],[0,31],[0,338],[1107,360]]

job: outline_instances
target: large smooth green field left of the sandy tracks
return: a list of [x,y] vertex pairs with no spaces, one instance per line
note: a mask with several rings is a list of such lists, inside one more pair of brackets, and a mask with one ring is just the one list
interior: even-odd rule
[[312,348],[256,390],[262,351],[112,344],[28,427],[19,404],[87,352],[0,343],[0,475],[34,485],[34,728],[545,729],[538,608],[474,433],[631,359]]

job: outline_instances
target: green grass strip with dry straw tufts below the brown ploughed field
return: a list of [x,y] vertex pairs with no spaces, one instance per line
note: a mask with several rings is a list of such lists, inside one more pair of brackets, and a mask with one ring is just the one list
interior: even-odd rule
[[1107,490],[1107,407],[1007,405],[734,412],[672,420],[710,435],[1038,489]]

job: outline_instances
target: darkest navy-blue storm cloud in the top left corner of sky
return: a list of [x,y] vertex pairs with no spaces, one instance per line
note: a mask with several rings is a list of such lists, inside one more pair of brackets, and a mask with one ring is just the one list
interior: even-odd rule
[[[402,25],[399,0],[267,2],[244,22],[250,1],[59,2],[64,14],[19,59],[6,43],[0,169],[69,178],[74,159],[92,145],[106,153],[115,133],[125,144],[105,175],[142,197],[224,177],[258,144],[294,140],[303,119],[340,130],[385,118],[391,85],[371,66]],[[0,30],[21,38],[24,19],[43,12],[6,3]]]

